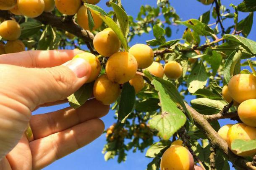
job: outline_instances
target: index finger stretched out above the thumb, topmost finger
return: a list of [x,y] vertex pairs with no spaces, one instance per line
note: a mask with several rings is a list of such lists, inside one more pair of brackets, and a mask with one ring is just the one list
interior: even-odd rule
[[23,67],[54,67],[71,60],[74,56],[83,52],[81,50],[24,51],[1,55],[0,63]]

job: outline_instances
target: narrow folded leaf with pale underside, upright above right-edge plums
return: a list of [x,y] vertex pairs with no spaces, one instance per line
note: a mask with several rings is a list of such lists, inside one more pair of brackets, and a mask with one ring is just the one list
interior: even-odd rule
[[231,77],[234,75],[235,65],[240,64],[240,58],[242,56],[241,51],[233,51],[230,56],[226,59],[225,66],[223,69],[224,80],[226,84],[229,83]]

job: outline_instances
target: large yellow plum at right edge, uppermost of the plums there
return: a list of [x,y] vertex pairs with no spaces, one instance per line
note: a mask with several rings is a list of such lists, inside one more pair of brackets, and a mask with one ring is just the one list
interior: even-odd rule
[[242,103],[248,99],[256,99],[256,76],[237,74],[228,83],[228,91],[232,99]]

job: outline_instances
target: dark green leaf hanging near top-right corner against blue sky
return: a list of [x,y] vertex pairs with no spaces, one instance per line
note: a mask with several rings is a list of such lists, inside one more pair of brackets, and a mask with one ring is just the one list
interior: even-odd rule
[[251,32],[251,27],[253,25],[253,13],[250,13],[248,17],[241,20],[237,25],[237,30],[242,30],[242,34],[244,37],[247,37]]

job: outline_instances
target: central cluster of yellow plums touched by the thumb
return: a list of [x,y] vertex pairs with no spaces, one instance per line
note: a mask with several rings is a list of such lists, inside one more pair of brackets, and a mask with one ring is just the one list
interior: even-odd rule
[[[120,84],[129,83],[136,93],[144,87],[144,79],[136,74],[137,69],[147,69],[154,76],[162,78],[165,74],[170,79],[178,79],[183,69],[176,61],[165,64],[154,61],[152,48],[145,44],[136,44],[128,52],[120,52],[120,41],[111,28],[97,33],[93,45],[95,50],[107,57],[106,74],[99,76],[101,65],[97,56],[92,53],[81,53],[74,58],[84,58],[91,64],[92,73],[87,83],[94,81],[94,97],[103,104],[112,104],[120,96]],[[99,76],[99,77],[98,77]]]

